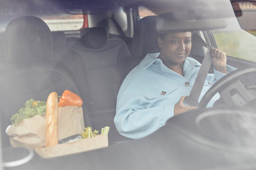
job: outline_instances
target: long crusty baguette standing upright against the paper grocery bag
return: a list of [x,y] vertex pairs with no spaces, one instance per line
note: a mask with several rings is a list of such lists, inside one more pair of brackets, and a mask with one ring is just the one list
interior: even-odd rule
[[46,102],[46,147],[58,144],[58,95],[49,94]]

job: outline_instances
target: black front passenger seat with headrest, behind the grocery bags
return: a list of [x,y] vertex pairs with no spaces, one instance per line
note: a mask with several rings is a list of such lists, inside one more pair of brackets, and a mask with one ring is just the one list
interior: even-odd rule
[[[51,92],[61,95],[64,90],[70,90],[80,95],[81,91],[70,70],[52,60],[52,34],[43,20],[13,19],[6,28],[3,42],[7,68],[0,70],[1,134],[3,146],[8,146],[5,128],[11,124],[11,115],[27,100],[46,101]],[[90,126],[87,108],[82,108],[85,126]]]

